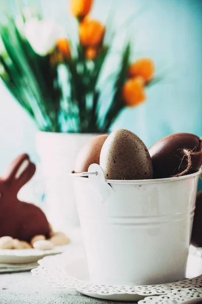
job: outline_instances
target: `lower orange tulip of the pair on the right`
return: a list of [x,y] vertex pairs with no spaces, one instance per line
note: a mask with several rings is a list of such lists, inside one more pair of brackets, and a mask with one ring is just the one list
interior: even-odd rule
[[127,80],[122,89],[122,98],[126,106],[133,107],[146,99],[144,93],[144,80],[136,77]]

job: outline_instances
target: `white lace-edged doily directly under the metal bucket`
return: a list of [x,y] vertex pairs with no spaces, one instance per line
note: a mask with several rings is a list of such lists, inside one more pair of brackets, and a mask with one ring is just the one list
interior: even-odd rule
[[119,299],[119,296],[122,295],[122,300],[129,299],[129,297],[123,295],[134,295],[134,300],[135,298],[139,300],[146,297],[139,301],[141,304],[179,303],[179,300],[181,303],[183,300],[202,297],[202,275],[194,279],[162,285],[112,286],[92,284],[70,276],[65,271],[68,264],[73,260],[79,261],[81,258],[83,258],[83,251],[75,251],[72,246],[68,252],[41,259],[39,267],[32,270],[32,274],[43,278],[46,284],[53,287],[76,289],[89,296]]

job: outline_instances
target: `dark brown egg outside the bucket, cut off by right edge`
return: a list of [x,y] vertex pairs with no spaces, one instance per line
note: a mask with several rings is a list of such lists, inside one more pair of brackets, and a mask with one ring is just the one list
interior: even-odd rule
[[202,247],[202,191],[198,192],[196,197],[191,244],[195,247]]

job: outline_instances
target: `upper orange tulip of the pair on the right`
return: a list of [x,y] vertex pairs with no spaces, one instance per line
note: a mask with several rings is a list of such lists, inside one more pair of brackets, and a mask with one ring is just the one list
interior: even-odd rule
[[155,64],[149,58],[142,58],[129,67],[129,77],[141,76],[145,82],[151,81],[154,77]]

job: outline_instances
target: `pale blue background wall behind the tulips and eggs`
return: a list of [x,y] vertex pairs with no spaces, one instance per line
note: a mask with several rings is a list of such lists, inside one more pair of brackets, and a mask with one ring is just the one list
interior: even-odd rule
[[[0,0],[1,1],[1,0]],[[33,3],[33,1],[32,1]],[[66,18],[66,0],[41,0],[50,19]],[[107,0],[95,0],[92,15],[106,18]],[[134,59],[153,58],[157,72],[171,68],[169,83],[147,92],[147,102],[125,110],[115,128],[135,132],[149,147],[174,132],[202,135],[202,1],[124,0],[120,1],[117,24],[140,7],[145,13],[134,23]],[[63,18],[62,18],[63,16]],[[18,154],[26,151],[38,161],[34,136],[36,128],[24,110],[0,84],[0,172]]]

